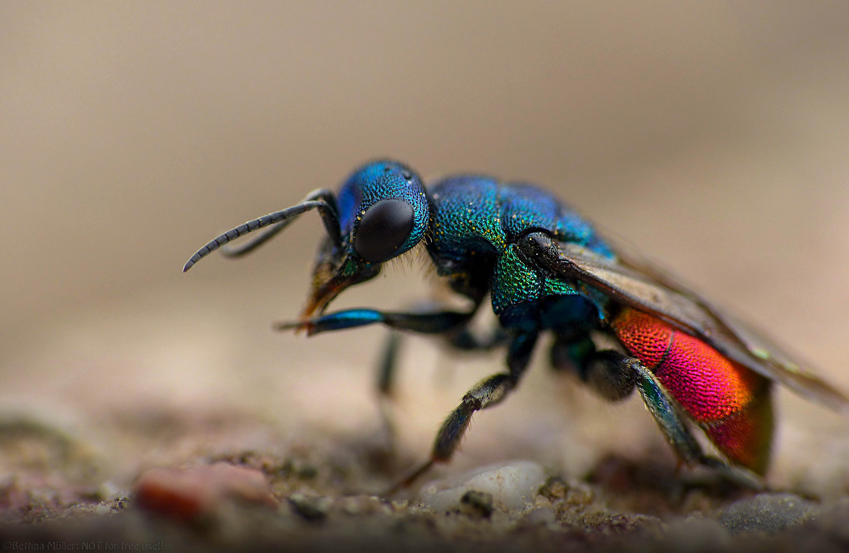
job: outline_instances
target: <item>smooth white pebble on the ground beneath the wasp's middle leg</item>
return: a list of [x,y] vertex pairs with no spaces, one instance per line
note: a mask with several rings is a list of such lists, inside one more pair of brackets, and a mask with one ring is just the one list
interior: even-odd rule
[[452,511],[469,490],[492,494],[493,505],[503,511],[523,511],[545,482],[545,471],[534,461],[510,461],[483,466],[453,477],[428,482],[420,490],[421,503],[434,511]]

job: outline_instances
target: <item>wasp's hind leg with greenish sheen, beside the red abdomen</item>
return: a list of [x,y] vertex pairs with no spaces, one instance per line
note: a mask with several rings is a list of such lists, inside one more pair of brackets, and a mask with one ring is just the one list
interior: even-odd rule
[[762,479],[743,467],[729,466],[722,460],[706,455],[687,426],[678,403],[661,381],[637,358],[607,350],[596,353],[589,361],[586,380],[605,397],[621,399],[636,387],[646,409],[654,417],[666,441],[678,457],[690,466],[704,465],[719,471],[729,480],[747,488],[762,489]]

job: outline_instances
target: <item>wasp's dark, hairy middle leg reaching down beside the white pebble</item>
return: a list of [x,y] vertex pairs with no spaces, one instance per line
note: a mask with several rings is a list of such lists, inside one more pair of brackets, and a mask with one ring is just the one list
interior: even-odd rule
[[398,489],[412,484],[434,463],[445,463],[451,459],[463,439],[466,429],[469,428],[472,414],[501,402],[516,387],[522,373],[525,372],[528,363],[531,361],[531,353],[533,353],[533,347],[537,343],[538,336],[539,333],[533,330],[522,332],[513,337],[507,353],[508,372],[488,376],[475,384],[469,392],[466,392],[458,408],[454,409],[451,415],[448,415],[447,419],[442,422],[439,432],[436,433],[430,460],[419,466],[402,482],[399,482],[388,494],[393,494]]

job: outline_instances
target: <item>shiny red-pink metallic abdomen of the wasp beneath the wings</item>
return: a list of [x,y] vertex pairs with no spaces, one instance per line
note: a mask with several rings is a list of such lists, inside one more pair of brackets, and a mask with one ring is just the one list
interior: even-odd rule
[[766,378],[646,313],[625,308],[610,326],[723,454],[758,474],[767,470],[773,410]]

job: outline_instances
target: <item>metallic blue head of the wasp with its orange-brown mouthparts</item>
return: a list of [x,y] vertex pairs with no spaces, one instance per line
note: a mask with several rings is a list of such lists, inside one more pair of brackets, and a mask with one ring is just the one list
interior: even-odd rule
[[318,249],[304,318],[321,313],[348,286],[377,276],[383,262],[419,244],[430,224],[421,178],[397,161],[372,161],[351,173],[336,207],[341,238],[329,237]]

